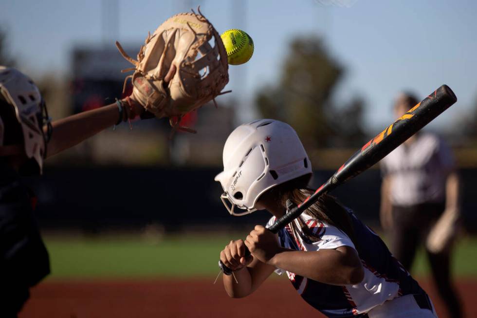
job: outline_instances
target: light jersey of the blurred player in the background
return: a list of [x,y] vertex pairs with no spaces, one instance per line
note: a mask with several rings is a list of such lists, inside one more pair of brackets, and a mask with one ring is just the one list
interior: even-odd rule
[[450,148],[438,136],[421,133],[381,161],[383,175],[391,176],[390,197],[395,206],[441,203],[445,182],[454,168]]

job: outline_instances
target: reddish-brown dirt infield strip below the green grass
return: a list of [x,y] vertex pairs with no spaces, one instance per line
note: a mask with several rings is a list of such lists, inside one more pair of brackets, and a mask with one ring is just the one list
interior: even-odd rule
[[[442,306],[427,281],[420,281]],[[460,280],[466,317],[477,317],[477,280]],[[46,281],[32,290],[20,318],[323,317],[284,280],[265,283],[252,296],[230,299],[211,280]]]

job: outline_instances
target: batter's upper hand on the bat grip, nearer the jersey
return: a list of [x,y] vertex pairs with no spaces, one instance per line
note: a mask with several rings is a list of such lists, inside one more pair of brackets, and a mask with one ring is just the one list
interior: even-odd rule
[[250,232],[245,245],[254,257],[264,263],[268,263],[281,249],[276,235],[261,225],[256,225]]

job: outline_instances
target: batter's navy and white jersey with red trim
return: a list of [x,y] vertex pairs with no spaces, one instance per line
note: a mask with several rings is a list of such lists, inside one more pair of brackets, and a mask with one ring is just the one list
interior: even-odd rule
[[[318,251],[349,246],[358,251],[363,263],[364,279],[356,285],[329,285],[287,271],[288,278],[301,297],[327,317],[344,318],[367,317],[366,313],[372,308],[403,295],[425,295],[417,281],[391,255],[381,238],[361,223],[351,210],[348,211],[357,247],[338,228],[313,219],[306,213],[302,214],[302,219],[313,233],[314,240],[307,238],[301,231],[295,235],[289,225],[278,232],[279,243],[285,248]],[[270,219],[268,225],[274,222],[275,217]],[[281,274],[283,270],[277,269],[276,272]]]

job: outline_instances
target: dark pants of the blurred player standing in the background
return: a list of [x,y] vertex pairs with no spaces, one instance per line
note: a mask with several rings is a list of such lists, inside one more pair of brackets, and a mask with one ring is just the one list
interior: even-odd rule
[[[420,204],[416,206],[393,206],[393,229],[391,231],[391,250],[394,256],[407,269],[411,269],[416,250],[424,243],[427,234],[444,211],[445,205]],[[425,246],[424,246],[425,247]],[[426,254],[432,270],[432,276],[442,301],[447,307],[449,317],[462,316],[459,296],[451,283],[451,251]]]

